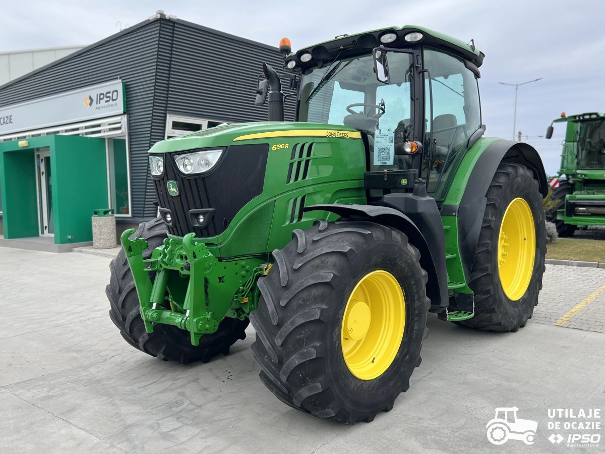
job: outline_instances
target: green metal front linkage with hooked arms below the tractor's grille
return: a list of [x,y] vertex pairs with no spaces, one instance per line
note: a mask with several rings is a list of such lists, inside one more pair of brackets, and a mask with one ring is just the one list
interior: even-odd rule
[[[145,260],[145,239],[120,237],[139,296],[140,313],[148,333],[154,324],[171,324],[191,333],[191,344],[199,345],[203,334],[218,329],[224,317],[243,320],[257,308],[257,278],[266,275],[270,264],[248,257],[220,261],[195,234],[164,240]],[[154,273],[152,278],[150,273]]]

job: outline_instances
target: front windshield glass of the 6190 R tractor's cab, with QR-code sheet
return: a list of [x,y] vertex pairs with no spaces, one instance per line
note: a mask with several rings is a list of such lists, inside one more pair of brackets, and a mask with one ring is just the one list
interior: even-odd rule
[[[374,163],[376,133],[393,134],[396,149],[413,133],[411,54],[389,53],[388,66],[388,85],[376,80],[371,55],[342,59],[303,74],[298,120],[347,125],[364,131]],[[388,162],[389,168],[410,168],[408,156],[395,153],[393,159]]]

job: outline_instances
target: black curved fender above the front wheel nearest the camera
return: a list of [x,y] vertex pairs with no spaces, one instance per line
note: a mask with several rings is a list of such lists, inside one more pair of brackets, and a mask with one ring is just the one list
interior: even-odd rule
[[330,211],[342,218],[352,220],[375,222],[405,233],[410,242],[420,251],[420,266],[428,273],[427,297],[431,300],[431,312],[433,312],[433,308],[448,307],[447,276],[437,273],[436,262],[431,255],[427,240],[416,224],[401,211],[387,206],[333,205],[331,203],[304,208],[304,211],[313,210]]

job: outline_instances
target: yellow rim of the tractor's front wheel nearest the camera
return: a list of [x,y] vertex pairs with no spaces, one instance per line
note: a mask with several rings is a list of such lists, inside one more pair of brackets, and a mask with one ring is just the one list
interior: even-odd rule
[[405,298],[397,279],[387,271],[366,274],[344,309],[342,355],[360,380],[379,377],[393,363],[405,331]]

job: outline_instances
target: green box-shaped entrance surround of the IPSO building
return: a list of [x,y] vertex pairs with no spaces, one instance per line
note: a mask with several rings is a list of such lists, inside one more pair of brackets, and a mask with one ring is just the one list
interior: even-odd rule
[[105,139],[42,136],[0,143],[0,184],[7,239],[39,235],[36,150],[50,151],[54,242],[92,240],[91,215],[108,205]]

